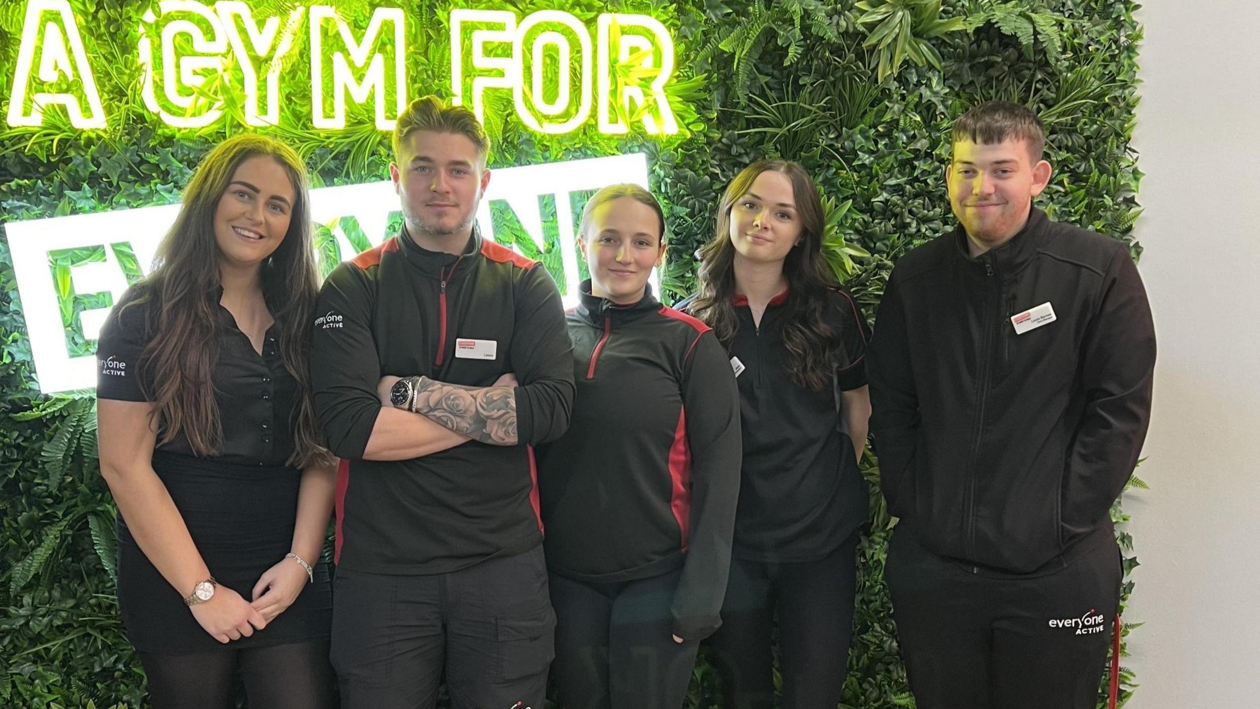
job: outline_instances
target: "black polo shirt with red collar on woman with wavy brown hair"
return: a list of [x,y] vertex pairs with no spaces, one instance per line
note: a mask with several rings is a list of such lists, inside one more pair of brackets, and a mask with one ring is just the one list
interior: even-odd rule
[[[738,329],[730,354],[738,371],[743,467],[733,555],[753,561],[822,559],[868,511],[853,443],[837,425],[832,385],[811,391],[789,377],[781,339],[788,295],[770,300],[760,327],[747,300],[735,299]],[[828,324],[839,341],[835,384],[859,389],[867,384],[866,323],[848,293],[828,290]]]

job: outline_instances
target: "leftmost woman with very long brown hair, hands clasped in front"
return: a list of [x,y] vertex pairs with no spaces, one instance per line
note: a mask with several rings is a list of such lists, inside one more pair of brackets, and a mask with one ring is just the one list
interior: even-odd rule
[[257,135],[210,150],[155,269],[97,346],[118,606],[152,705],[331,708],[319,563],[334,460],[310,400],[306,169]]

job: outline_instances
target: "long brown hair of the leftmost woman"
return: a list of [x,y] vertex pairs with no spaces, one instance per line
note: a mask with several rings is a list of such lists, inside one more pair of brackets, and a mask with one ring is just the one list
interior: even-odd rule
[[294,453],[289,466],[328,462],[320,445],[311,401],[307,351],[310,317],[319,294],[319,275],[311,252],[311,217],[306,167],[292,148],[262,135],[237,135],[218,144],[197,167],[175,223],[163,237],[154,270],[140,284],[150,303],[147,331],[152,334],[140,357],[141,381],[161,421],[161,444],[183,433],[198,455],[214,455],[223,443],[219,407],[210,372],[218,361],[217,298],[219,249],[214,213],[237,168],[266,155],[289,175],[296,198],[289,231],[262,265],[262,295],[280,329],[280,357],[297,382]]

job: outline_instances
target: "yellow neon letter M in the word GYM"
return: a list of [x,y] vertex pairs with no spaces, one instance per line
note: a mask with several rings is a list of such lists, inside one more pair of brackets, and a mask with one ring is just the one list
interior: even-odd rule
[[[336,32],[341,44],[349,50],[349,61],[343,52],[331,53],[331,92],[333,111],[326,112],[324,98],[324,24],[336,20]],[[383,26],[391,23],[392,34],[384,34]],[[379,52],[372,52],[378,37],[386,47],[393,52],[393,74],[386,73],[386,58]],[[310,53],[311,53],[311,122],[319,129],[344,129],[345,127],[345,96],[355,103],[365,103],[370,97],[375,97],[375,125],[379,130],[393,130],[398,120],[398,114],[407,106],[407,76],[403,67],[403,58],[407,54],[406,26],[403,13],[399,8],[377,8],[372,13],[372,20],[363,34],[363,42],[355,42],[354,34],[345,21],[338,16],[336,10],[328,5],[314,5],[310,9]],[[369,58],[370,54],[370,58]],[[363,81],[354,77],[350,66],[363,73]],[[394,106],[387,110],[386,98],[389,93],[387,87],[393,83]]]

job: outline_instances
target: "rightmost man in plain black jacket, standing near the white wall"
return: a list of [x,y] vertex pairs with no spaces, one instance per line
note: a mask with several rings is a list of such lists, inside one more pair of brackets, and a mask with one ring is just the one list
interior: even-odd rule
[[1123,242],[1032,207],[1043,145],[1014,103],[955,122],[960,227],[897,262],[871,343],[921,709],[1092,709],[1118,611],[1109,511],[1147,434],[1154,327]]

